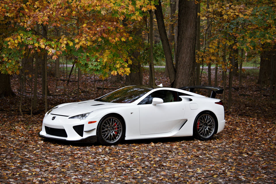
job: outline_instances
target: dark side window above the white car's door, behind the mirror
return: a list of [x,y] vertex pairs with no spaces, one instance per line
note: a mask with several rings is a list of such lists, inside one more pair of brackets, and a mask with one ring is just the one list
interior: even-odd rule
[[153,98],[161,98],[164,103],[178,101],[178,95],[176,91],[158,90],[145,97],[138,105],[151,104]]

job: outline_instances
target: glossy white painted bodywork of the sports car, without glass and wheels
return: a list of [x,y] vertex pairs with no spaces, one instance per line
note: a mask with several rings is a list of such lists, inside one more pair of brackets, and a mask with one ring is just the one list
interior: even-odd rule
[[[138,105],[147,95],[158,90],[173,90],[186,95],[179,96],[182,101]],[[132,103],[108,103],[88,100],[61,104],[56,106],[58,108],[45,114],[39,135],[66,141],[78,141],[97,136],[97,125],[101,118],[115,113],[122,116],[125,122],[124,139],[126,140],[192,136],[195,118],[203,111],[210,111],[215,114],[218,122],[218,133],[223,130],[225,125],[224,107],[215,104],[218,101],[220,100],[181,89],[160,87],[147,92]],[[70,119],[72,116],[84,113],[90,113],[86,119]],[[54,116],[55,119],[52,120]],[[73,126],[82,124],[84,124],[83,136],[80,136],[73,129]],[[45,126],[53,129],[64,129],[67,137],[47,134]]]

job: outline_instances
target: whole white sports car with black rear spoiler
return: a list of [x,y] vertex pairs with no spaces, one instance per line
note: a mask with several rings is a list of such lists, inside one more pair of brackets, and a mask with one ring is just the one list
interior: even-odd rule
[[[211,97],[193,93],[196,88],[212,90]],[[52,108],[45,114],[39,136],[104,145],[160,137],[208,140],[225,125],[223,103],[214,98],[222,92],[211,86],[127,86],[94,100]]]

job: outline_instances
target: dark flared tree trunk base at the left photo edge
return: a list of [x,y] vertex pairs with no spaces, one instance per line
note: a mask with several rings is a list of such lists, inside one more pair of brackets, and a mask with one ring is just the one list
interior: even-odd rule
[[11,79],[9,74],[2,74],[0,72],[0,98],[16,96],[11,89]]

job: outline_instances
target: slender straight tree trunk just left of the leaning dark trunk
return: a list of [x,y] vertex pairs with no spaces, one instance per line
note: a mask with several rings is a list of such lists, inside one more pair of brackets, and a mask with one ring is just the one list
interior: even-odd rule
[[154,75],[154,63],[153,63],[153,20],[152,10],[150,10],[150,76],[149,85],[155,86],[155,75]]

